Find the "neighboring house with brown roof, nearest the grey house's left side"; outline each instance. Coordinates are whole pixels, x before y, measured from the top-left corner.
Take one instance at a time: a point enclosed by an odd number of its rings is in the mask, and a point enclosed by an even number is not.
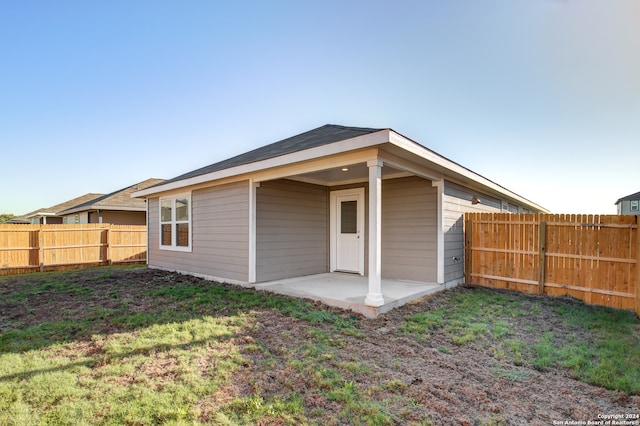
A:
[[[164,179],[147,179],[107,195],[93,198],[58,212],[63,223],[112,223],[115,225],[145,225],[147,203],[131,198],[135,191],[163,182]]]

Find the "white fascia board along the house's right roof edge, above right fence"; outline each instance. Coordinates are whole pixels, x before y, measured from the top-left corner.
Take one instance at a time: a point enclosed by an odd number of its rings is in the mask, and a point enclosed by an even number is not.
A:
[[[502,194],[508,198],[511,198],[513,200],[518,201],[519,203],[522,203],[526,206],[529,207],[533,207],[537,210],[543,211],[543,212],[548,212],[547,209],[545,209],[542,206],[539,206],[538,204],[527,200],[526,198],[509,191],[508,189],[504,188],[503,186],[498,185],[497,183],[467,169],[466,167],[463,167],[461,165],[459,165],[458,163],[455,163],[445,157],[442,157],[441,155],[436,154],[435,152],[423,147],[422,145],[402,136],[401,134],[398,134],[396,132],[391,132],[391,135],[389,137],[389,142],[392,143],[393,145],[396,145],[402,149],[404,149],[405,151],[411,152],[412,154],[415,154],[435,165],[441,166],[444,169],[450,171],[451,173],[453,173],[454,175],[458,175],[461,176],[463,178],[466,179],[470,179],[486,188],[491,189],[494,192],[497,192],[499,194]]]

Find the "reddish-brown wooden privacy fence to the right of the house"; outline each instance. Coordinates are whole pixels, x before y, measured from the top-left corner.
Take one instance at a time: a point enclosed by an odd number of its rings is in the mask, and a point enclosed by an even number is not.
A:
[[[465,238],[467,283],[640,316],[638,216],[466,213]]]

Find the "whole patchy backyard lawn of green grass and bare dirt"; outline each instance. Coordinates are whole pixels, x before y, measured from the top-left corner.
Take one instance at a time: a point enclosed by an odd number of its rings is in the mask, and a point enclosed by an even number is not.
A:
[[[457,288],[366,320],[103,267],[0,277],[0,313],[0,425],[550,423],[640,405],[640,321],[566,298]]]

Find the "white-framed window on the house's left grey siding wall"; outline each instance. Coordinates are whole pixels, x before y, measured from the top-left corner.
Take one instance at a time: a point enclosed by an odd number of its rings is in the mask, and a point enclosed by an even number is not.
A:
[[[191,196],[160,199],[160,248],[191,251]]]

